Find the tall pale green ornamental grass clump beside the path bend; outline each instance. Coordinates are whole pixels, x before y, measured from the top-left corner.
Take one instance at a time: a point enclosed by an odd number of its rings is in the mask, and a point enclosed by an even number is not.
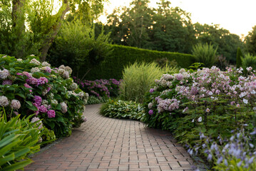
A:
[[[156,63],[133,63],[123,71],[120,85],[120,97],[123,100],[134,100],[143,103],[144,95],[154,83],[155,78],[165,71]]]

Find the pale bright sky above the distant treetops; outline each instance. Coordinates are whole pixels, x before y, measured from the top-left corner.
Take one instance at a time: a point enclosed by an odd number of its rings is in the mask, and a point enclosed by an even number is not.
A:
[[[104,9],[111,14],[118,6],[129,6],[132,0],[109,0]],[[150,6],[157,7],[151,0]],[[230,33],[242,37],[247,36],[252,27],[256,25],[255,0],[169,0],[170,6],[178,6],[191,14],[193,23],[220,24]],[[101,21],[106,22],[106,16],[101,16]]]

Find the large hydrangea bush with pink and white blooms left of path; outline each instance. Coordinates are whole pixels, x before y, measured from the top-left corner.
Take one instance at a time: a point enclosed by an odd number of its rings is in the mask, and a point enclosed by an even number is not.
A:
[[[35,56],[21,60],[0,55],[0,64],[0,105],[11,113],[7,118],[35,113],[57,137],[70,135],[83,122],[88,94],[73,83],[71,68],[51,68]]]

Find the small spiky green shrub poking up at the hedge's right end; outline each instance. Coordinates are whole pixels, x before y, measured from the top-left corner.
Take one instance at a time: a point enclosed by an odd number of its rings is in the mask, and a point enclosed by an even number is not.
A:
[[[199,63],[204,63],[205,67],[211,67],[216,63],[216,52],[217,48],[213,45],[208,45],[208,43],[198,44],[193,47],[193,55],[195,56],[195,61]]]

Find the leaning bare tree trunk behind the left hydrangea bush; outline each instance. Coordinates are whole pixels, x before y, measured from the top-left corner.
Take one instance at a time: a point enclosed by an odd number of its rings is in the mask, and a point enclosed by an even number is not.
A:
[[[56,16],[60,17],[56,21],[56,25],[52,27],[52,33],[51,35],[46,38],[46,40],[43,43],[43,47],[41,48],[41,61],[46,61],[46,56],[48,53],[49,48],[51,47],[51,43],[53,43],[54,39],[56,38],[59,29],[61,28],[61,21],[63,21],[65,14],[69,11],[70,7],[68,5],[68,2],[63,2],[63,5],[61,6],[61,9],[59,9],[58,14]]]

